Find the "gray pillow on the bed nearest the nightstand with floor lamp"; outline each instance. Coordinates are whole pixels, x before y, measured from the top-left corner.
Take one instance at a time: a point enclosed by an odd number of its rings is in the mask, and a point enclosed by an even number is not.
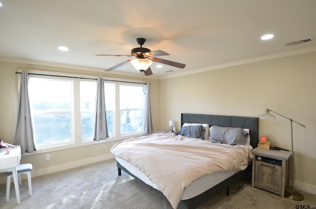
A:
[[[246,144],[248,135],[242,128],[213,126],[209,140],[215,143],[243,145]]]

